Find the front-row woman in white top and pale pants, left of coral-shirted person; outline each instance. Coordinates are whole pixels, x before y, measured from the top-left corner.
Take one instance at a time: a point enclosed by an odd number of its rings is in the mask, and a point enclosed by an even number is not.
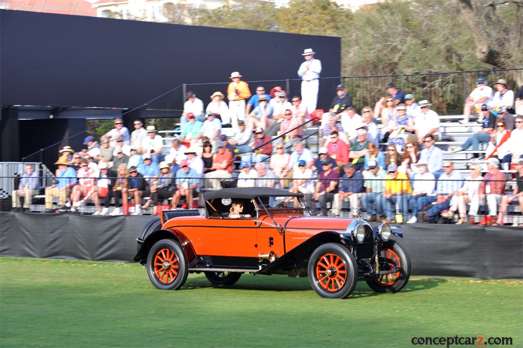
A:
[[[452,196],[449,211],[441,214],[444,218],[452,219],[454,217],[454,211],[458,210],[459,220],[456,224],[467,224],[467,204],[472,201],[474,195],[478,194],[480,183],[483,179],[479,164],[471,165],[470,170],[471,175],[465,178],[463,186],[457,190],[456,195]]]

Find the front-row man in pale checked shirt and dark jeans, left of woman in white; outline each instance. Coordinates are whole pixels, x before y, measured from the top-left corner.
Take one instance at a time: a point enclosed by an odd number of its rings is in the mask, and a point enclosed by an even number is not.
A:
[[[436,183],[436,204],[421,213],[423,222],[436,223],[439,213],[449,209],[450,198],[456,195],[463,183],[463,176],[454,170],[452,161],[443,162],[443,172]]]

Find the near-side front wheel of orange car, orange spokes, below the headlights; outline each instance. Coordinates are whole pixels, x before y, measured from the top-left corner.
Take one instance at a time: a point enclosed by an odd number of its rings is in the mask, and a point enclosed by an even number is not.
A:
[[[358,282],[353,254],[336,243],[323,244],[314,250],[308,272],[312,288],[321,297],[346,298]]]

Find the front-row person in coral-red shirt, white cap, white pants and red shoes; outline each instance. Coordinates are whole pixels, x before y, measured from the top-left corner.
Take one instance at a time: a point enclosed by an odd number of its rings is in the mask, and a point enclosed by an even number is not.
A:
[[[496,223],[497,206],[501,203],[501,198],[505,194],[505,185],[507,178],[504,173],[499,170],[499,161],[496,158],[491,158],[487,162],[487,170],[483,176],[483,181],[480,183],[479,195],[473,197],[470,204],[471,219],[477,215],[480,204],[488,206],[488,215],[484,216],[478,225],[492,225]],[[477,198],[476,198],[477,197]]]

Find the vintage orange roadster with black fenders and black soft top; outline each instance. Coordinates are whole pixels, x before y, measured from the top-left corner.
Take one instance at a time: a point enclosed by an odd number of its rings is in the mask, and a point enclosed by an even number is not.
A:
[[[200,272],[215,285],[232,285],[243,273],[308,276],[328,298],[347,297],[358,280],[383,293],[407,284],[410,259],[390,239],[403,238],[403,231],[387,223],[372,228],[359,218],[311,217],[302,198],[267,187],[206,192],[205,216],[197,209],[164,210],[147,223],[134,261],[166,290]],[[287,207],[294,199],[299,207]],[[232,205],[242,205],[241,214],[231,215]]]

